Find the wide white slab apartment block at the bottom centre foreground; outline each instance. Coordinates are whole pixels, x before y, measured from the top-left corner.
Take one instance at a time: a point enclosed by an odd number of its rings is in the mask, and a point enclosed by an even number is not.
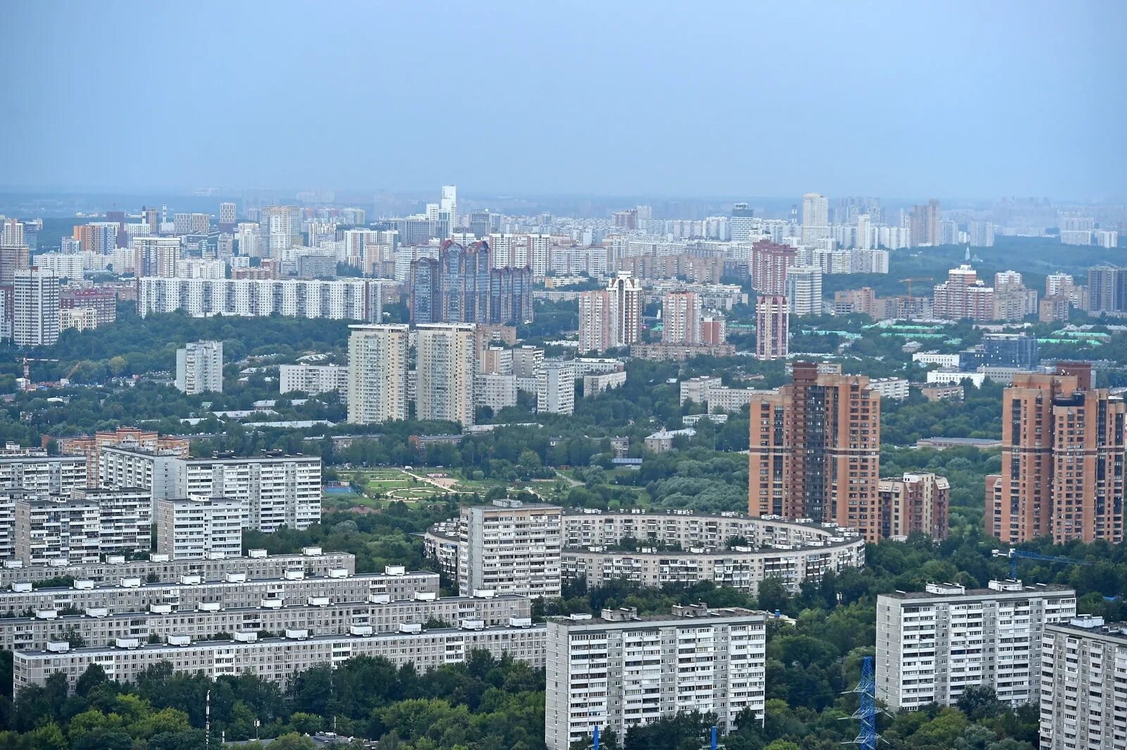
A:
[[[604,609],[548,622],[544,742],[568,750],[596,727],[624,736],[682,711],[715,714],[721,731],[765,707],[766,614],[674,606],[672,615]]]

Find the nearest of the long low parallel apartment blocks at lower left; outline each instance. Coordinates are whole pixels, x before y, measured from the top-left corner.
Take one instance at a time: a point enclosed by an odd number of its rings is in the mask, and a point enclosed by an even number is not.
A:
[[[473,651],[508,655],[539,668],[543,667],[545,633],[543,625],[531,623],[380,634],[355,626],[347,635],[310,635],[304,628],[286,628],[284,637],[270,639],[238,633],[232,641],[192,642],[188,636],[170,636],[168,643],[144,644],[140,639],[121,639],[114,646],[87,649],[56,643],[46,651],[17,651],[14,685],[18,691],[44,685],[52,675],[62,672],[73,687],[90,664],[99,664],[112,680],[128,682],[150,667],[171,662],[176,672],[203,671],[210,679],[254,671],[285,689],[294,672],[353,657],[382,657],[396,667],[410,663],[427,671],[465,661]]]

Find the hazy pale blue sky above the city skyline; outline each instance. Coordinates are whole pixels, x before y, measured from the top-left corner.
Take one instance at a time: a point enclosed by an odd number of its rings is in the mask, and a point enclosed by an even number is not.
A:
[[[3,186],[1127,196],[1120,0],[3,16]]]

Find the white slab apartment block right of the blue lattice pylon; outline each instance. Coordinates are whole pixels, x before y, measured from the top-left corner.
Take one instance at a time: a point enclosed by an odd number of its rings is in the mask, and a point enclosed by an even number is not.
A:
[[[924,591],[877,597],[877,699],[894,711],[953,706],[988,687],[1018,707],[1037,703],[1041,636],[1076,614],[1063,586],[991,581],[985,589],[929,583]]]

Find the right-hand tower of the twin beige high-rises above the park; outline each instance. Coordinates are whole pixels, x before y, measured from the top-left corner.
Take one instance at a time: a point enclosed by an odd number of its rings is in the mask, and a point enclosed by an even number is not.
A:
[[[472,323],[419,325],[416,419],[473,425],[477,347]]]

